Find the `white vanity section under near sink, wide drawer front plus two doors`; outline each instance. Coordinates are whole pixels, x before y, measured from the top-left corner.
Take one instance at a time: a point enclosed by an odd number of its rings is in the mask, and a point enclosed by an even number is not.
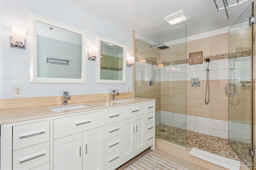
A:
[[[54,119],[53,136],[54,170],[104,169],[104,111]]]

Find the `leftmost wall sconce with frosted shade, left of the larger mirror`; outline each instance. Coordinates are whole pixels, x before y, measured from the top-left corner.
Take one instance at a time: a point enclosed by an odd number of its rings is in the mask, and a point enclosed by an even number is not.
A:
[[[12,35],[10,35],[10,47],[17,49],[26,49],[26,29],[12,27]]]

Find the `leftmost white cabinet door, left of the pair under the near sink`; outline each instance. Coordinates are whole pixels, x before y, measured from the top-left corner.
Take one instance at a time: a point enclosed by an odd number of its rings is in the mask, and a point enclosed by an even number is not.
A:
[[[53,152],[54,170],[81,170],[82,133],[54,140]]]

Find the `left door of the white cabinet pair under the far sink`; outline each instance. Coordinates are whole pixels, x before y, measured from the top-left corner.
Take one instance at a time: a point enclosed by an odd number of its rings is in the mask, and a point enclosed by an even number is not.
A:
[[[121,157],[122,160],[134,152],[134,119],[126,119],[121,122]]]

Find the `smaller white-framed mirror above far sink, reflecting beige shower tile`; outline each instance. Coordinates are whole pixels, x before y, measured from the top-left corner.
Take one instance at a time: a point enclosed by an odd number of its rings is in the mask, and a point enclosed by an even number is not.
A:
[[[97,83],[126,83],[125,45],[98,37]]]

